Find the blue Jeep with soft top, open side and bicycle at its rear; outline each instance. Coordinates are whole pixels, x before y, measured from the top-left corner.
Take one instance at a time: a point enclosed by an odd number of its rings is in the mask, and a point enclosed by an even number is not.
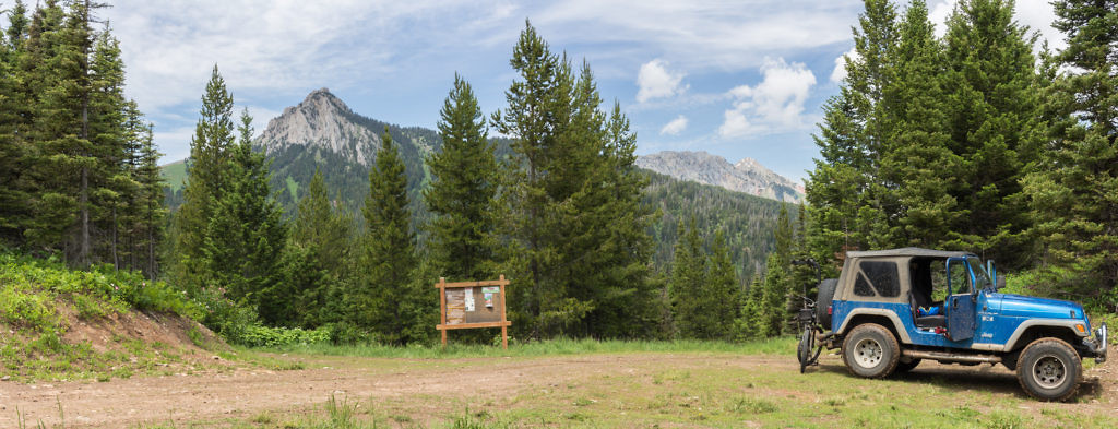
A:
[[[1107,359],[1106,323],[1092,337],[1081,305],[998,293],[998,280],[993,263],[965,251],[847,252],[839,278],[819,282],[800,361],[817,343],[841,347],[850,372],[864,378],[909,371],[921,360],[1001,363],[1034,398],[1070,398],[1080,361]]]

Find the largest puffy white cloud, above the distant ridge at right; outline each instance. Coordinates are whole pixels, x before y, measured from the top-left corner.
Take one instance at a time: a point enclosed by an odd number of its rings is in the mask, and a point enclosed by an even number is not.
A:
[[[804,102],[815,86],[815,74],[800,63],[788,64],[777,58],[765,60],[761,76],[764,79],[757,86],[730,89],[733,108],[723,114],[719,135],[738,137],[805,126]]]

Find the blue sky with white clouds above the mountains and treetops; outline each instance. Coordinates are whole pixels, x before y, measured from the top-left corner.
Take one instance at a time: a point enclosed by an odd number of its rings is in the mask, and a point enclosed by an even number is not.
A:
[[[953,4],[929,0],[934,21]],[[164,162],[189,154],[214,64],[257,132],[321,87],[359,114],[434,127],[455,73],[486,114],[502,108],[527,18],[553,50],[589,61],[603,98],[632,120],[639,154],[752,158],[799,181],[861,11],[847,0],[120,0],[100,15]],[[1018,1],[1017,19],[1061,45],[1045,1]]]

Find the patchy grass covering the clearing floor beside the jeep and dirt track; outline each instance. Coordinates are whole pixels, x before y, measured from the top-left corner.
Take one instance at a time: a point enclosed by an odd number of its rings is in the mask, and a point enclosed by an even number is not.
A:
[[[257,349],[258,350],[258,349]],[[233,428],[1114,428],[1118,418],[1098,392],[1070,403],[1023,395],[1006,372],[954,373],[918,368],[884,380],[852,376],[835,356],[800,374],[793,339],[719,342],[558,340],[500,347],[311,346],[286,349],[300,359],[345,358],[371,373],[421,373],[449,363],[457,371],[505,364],[567,364],[550,356],[618,355],[616,370],[540,381],[501,394],[405,393],[330,398],[312,409],[267,414],[269,422],[230,420]],[[664,358],[664,361],[656,359]],[[740,359],[752,355],[750,359]],[[771,358],[757,359],[756,355]],[[513,360],[477,358],[510,356]],[[626,360],[626,356],[633,356]],[[369,358],[369,359],[362,359]],[[788,360],[785,362],[784,360]],[[666,363],[670,361],[671,363]],[[780,362],[773,364],[771,362]],[[958,368],[958,366],[955,366]],[[572,371],[578,371],[572,368]],[[1084,390],[1087,390],[1084,388]],[[256,419],[246,416],[245,419]],[[259,420],[259,419],[256,419]]]

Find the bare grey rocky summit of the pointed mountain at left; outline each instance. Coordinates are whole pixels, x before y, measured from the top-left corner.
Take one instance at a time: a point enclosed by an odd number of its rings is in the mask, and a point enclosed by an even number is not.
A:
[[[307,150],[331,151],[369,165],[380,147],[380,136],[357,124],[354,116],[353,111],[330,89],[315,89],[303,102],[284,108],[283,114],[268,121],[256,144],[264,147],[267,154],[302,145]]]

